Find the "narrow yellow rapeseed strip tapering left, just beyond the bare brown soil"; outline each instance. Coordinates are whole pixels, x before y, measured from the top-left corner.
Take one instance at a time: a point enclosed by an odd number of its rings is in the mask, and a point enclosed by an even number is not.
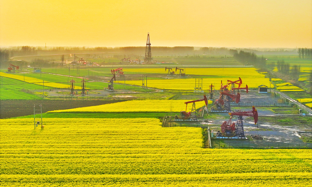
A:
[[[194,98],[196,99],[196,98]],[[198,98],[201,99],[201,98]],[[121,103],[110,103],[91,107],[72,108],[66,110],[54,110],[47,113],[71,113],[71,112],[181,112],[186,108],[186,102],[188,100],[132,100]],[[212,101],[208,101],[212,103]],[[196,108],[200,108],[205,105],[204,101],[197,102]],[[188,104],[188,111],[192,109],[192,103]]]

